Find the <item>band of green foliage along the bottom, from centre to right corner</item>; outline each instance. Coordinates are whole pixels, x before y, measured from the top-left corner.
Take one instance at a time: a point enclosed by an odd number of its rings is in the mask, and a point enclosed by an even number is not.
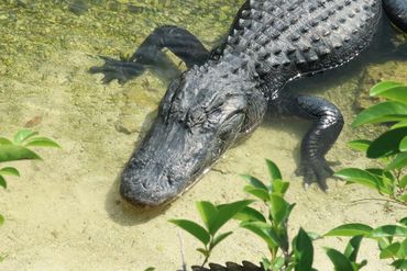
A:
[[[295,206],[285,200],[289,183],[283,181],[280,171],[274,162],[270,160],[266,162],[271,174],[268,184],[254,177],[243,176],[249,182],[244,191],[266,205],[266,215],[249,206],[253,201],[248,200],[217,206],[210,202],[198,202],[197,207],[205,227],[187,219],[170,221],[204,244],[204,248],[198,248],[198,251],[205,256],[201,267],[208,262],[213,247],[232,234],[228,232],[216,235],[217,232],[228,221],[234,218],[241,222],[242,228],[258,236],[267,246],[270,257],[262,259],[262,267],[267,271],[316,271],[312,268],[314,241],[329,236],[351,237],[343,252],[326,248],[327,256],[336,271],[358,271],[367,264],[366,260],[359,262],[356,259],[363,238],[377,240],[381,259],[392,258],[392,266],[396,270],[406,268],[407,217],[398,225],[385,225],[377,228],[363,224],[344,224],[323,236],[299,228],[293,241],[289,242],[288,218]]]

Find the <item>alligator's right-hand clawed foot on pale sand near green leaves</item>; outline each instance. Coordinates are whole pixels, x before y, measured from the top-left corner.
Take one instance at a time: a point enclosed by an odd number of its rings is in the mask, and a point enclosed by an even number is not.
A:
[[[304,177],[304,187],[308,188],[311,183],[317,182],[319,188],[328,191],[327,179],[331,178],[333,170],[324,159],[302,162],[295,171],[296,176]]]

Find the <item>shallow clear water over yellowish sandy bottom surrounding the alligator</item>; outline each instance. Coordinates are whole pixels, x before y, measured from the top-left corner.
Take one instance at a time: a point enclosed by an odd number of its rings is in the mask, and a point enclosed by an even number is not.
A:
[[[182,251],[188,264],[201,259],[198,244],[167,223],[175,217],[198,219],[194,202],[237,200],[243,181],[239,173],[266,180],[264,158],[276,161],[292,181],[290,221],[323,233],[341,223],[394,223],[405,211],[375,201],[366,189],[330,181],[324,194],[305,191],[294,176],[298,143],[308,123],[267,117],[249,139],[231,149],[188,193],[162,210],[138,210],[118,193],[120,172],[154,117],[166,83],[152,74],[120,86],[103,86],[88,68],[99,55],[130,55],[163,24],[187,27],[209,48],[222,37],[242,1],[0,1],[0,134],[11,136],[23,126],[55,138],[62,150],[41,149],[43,162],[15,166],[22,177],[0,191],[7,223],[0,228],[0,270],[176,270]],[[387,29],[388,30],[388,29]],[[354,131],[350,122],[369,102],[365,90],[380,80],[407,82],[407,57],[394,52],[403,35],[386,31],[376,46],[359,60],[288,88],[326,97],[343,112],[346,124],[328,158],[340,167],[364,167],[364,157],[345,142],[369,136],[374,128]],[[387,41],[392,37],[392,43]],[[406,52],[406,50],[404,50]],[[178,60],[174,58],[178,64]],[[363,102],[361,102],[363,101]],[[362,104],[361,104],[362,103]],[[266,249],[255,237],[238,229],[220,245],[212,260],[258,261]],[[183,246],[179,239],[183,240]],[[332,244],[333,241],[333,244]],[[318,241],[316,267],[331,270],[322,246],[343,249],[345,240]],[[391,270],[378,262],[375,245],[363,246],[369,270]]]

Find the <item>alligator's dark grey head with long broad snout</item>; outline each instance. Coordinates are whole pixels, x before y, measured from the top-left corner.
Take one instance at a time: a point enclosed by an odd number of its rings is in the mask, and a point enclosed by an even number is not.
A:
[[[176,199],[256,126],[265,108],[248,71],[224,61],[188,70],[169,84],[155,123],[127,165],[122,196],[150,206]]]

